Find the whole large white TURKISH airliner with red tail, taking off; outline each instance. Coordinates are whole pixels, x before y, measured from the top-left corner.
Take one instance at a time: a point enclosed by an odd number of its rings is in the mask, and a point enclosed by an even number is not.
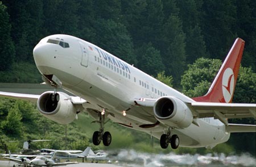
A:
[[[100,47],[70,35],[44,37],[35,46],[35,64],[53,91],[0,92],[2,97],[37,103],[39,112],[60,124],[86,111],[100,124],[93,144],[110,145],[107,119],[160,139],[166,149],[213,148],[232,132],[256,132],[255,125],[228,119],[256,119],[256,104],[231,103],[245,41],[237,38],[206,95],[190,98]],[[62,88],[72,93],[68,95]]]

